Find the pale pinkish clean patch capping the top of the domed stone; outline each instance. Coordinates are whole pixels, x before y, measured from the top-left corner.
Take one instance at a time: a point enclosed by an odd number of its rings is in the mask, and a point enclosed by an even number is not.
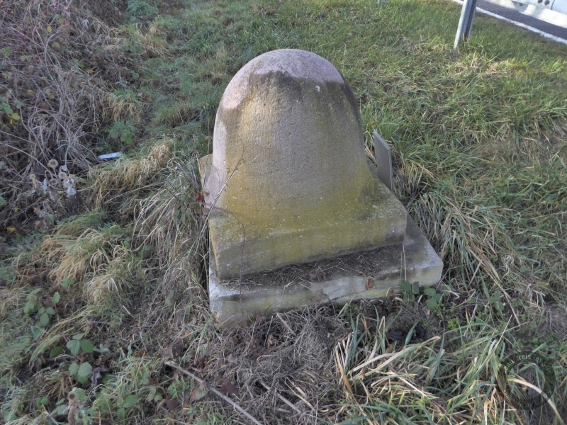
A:
[[[287,77],[313,80],[320,84],[345,84],[339,70],[315,53],[298,49],[272,50],[255,57],[232,77],[225,90],[226,95],[220,101],[220,107],[237,108],[248,92],[249,76],[272,72],[281,72]]]

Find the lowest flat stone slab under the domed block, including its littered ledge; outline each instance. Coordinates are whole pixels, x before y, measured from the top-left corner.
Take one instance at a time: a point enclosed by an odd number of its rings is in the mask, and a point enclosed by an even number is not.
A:
[[[399,291],[403,280],[435,285],[443,262],[408,216],[403,244],[349,254],[275,271],[219,280],[215,256],[209,254],[210,309],[221,325],[304,305],[345,304]]]

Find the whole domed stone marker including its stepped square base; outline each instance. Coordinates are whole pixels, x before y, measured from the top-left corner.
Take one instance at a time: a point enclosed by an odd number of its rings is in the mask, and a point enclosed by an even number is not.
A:
[[[199,167],[220,322],[440,279],[439,257],[366,162],[354,94],[318,55],[275,50],[242,67]]]

